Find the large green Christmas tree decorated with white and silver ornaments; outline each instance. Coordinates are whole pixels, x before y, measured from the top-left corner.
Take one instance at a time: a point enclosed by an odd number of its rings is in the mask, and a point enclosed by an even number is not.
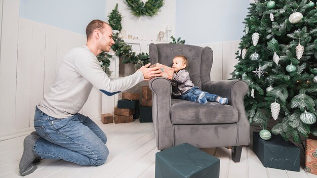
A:
[[[315,1],[251,1],[233,79],[249,84],[249,122],[299,143],[317,136],[317,10]],[[275,123],[275,122],[274,122]]]

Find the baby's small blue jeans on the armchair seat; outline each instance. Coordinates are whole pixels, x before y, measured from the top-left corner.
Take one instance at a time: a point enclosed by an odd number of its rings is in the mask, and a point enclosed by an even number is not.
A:
[[[202,93],[203,91],[199,90],[199,87],[194,86],[192,88],[190,88],[188,91],[186,91],[185,93],[183,93],[180,98],[182,100],[188,100],[188,101],[192,101],[192,102],[198,102],[198,97],[199,95]],[[217,102],[217,98],[219,97],[216,94],[210,94],[208,92],[204,92],[205,93],[205,97],[207,99],[207,101],[211,101],[211,102]]]

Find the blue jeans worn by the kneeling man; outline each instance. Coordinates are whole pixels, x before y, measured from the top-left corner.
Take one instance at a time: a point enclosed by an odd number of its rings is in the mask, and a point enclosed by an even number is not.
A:
[[[104,164],[109,155],[106,135],[83,114],[56,119],[36,107],[34,128],[41,138],[35,142],[33,151],[42,158],[98,166]]]

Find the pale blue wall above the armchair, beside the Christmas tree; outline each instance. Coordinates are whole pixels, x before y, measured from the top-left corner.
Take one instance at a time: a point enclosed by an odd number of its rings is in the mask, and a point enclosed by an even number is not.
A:
[[[239,40],[250,2],[176,0],[176,37],[186,44]]]

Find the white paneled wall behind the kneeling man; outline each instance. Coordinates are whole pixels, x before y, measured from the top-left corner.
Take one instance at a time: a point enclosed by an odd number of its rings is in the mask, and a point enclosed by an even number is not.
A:
[[[15,1],[6,2],[13,4]],[[18,7],[18,4],[15,6]],[[3,14],[7,15],[5,12]],[[86,44],[84,35],[27,19],[16,17],[15,23],[10,23],[3,23],[6,28],[3,28],[1,35],[0,140],[25,135],[33,130],[35,106],[50,91],[63,56],[70,49]],[[113,66],[114,63],[110,68]],[[100,119],[101,95],[93,88],[81,113],[92,119]],[[111,105],[113,100],[106,102]],[[113,105],[109,107],[113,108]]]

